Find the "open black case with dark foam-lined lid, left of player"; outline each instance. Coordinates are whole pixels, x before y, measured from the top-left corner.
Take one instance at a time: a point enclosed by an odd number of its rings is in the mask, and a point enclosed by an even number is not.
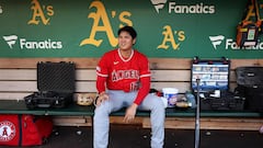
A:
[[[24,98],[28,109],[65,107],[73,102],[73,62],[37,62],[37,92]]]

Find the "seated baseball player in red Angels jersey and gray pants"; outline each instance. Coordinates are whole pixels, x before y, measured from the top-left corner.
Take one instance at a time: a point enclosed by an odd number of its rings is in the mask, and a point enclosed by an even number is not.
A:
[[[94,148],[107,148],[111,112],[126,107],[124,122],[135,118],[137,110],[150,111],[151,148],[162,148],[164,140],[164,104],[149,94],[148,58],[133,48],[137,33],[132,26],[118,30],[118,48],[105,53],[96,67],[96,89],[93,123]]]

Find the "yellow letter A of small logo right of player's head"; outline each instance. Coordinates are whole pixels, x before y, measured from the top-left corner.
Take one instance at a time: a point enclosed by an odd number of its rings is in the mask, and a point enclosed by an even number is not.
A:
[[[173,49],[178,49],[180,44],[175,43],[171,26],[165,25],[163,29],[165,30],[165,31],[162,32],[164,38],[162,41],[162,44],[159,45],[157,48],[168,49],[169,46],[167,45],[167,43],[169,42],[169,43],[172,44]]]

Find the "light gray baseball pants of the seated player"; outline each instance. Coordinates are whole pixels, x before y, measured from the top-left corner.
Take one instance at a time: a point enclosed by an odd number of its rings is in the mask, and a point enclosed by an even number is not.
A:
[[[116,90],[108,90],[108,101],[104,101],[94,112],[93,123],[93,147],[107,148],[108,132],[110,132],[110,114],[118,111],[122,107],[129,106],[134,103],[137,96],[135,92],[124,92]],[[164,118],[165,109],[162,100],[153,94],[148,94],[138,110],[150,111],[151,123],[151,148],[162,148],[164,140]],[[135,137],[136,138],[136,137]],[[139,139],[139,138],[138,138]]]

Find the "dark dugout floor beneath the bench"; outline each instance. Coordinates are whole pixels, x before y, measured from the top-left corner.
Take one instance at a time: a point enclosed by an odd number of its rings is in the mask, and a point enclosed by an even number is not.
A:
[[[194,148],[194,130],[165,129],[164,148]],[[150,129],[130,125],[111,125],[108,148],[149,148]],[[259,132],[201,130],[199,148],[262,148]],[[0,146],[0,148],[8,148]],[[92,148],[91,127],[58,126],[48,141],[33,148]]]

